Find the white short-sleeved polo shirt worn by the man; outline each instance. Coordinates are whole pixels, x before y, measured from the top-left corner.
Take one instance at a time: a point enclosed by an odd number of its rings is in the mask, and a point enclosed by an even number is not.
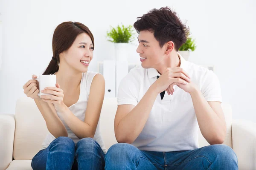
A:
[[[183,68],[200,88],[207,101],[221,102],[221,88],[217,76],[199,65],[188,62],[180,56]],[[137,105],[148,88],[160,74],[154,68],[137,66],[122,79],[119,85],[118,105]],[[173,95],[160,94],[149,114],[148,120],[137,139],[132,143],[140,150],[170,152],[198,148],[198,122],[192,99],[176,85]],[[138,113],[139,114],[139,113]]]

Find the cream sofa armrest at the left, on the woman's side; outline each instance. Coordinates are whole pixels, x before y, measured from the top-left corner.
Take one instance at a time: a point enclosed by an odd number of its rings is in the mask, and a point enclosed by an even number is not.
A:
[[[0,170],[5,170],[12,161],[15,132],[15,115],[0,114]]]

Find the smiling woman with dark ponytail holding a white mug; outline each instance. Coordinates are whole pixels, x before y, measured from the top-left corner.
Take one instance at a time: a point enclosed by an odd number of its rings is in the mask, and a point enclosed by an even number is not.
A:
[[[101,74],[87,71],[93,59],[94,39],[81,23],[64,22],[54,31],[53,57],[44,74],[55,74],[56,87],[39,98],[35,75],[24,93],[35,100],[49,134],[32,159],[33,170],[101,170],[105,153],[99,116],[105,93]]]

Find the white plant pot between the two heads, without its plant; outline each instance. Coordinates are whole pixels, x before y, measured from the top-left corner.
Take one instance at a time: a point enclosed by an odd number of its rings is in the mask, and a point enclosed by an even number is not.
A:
[[[115,43],[116,61],[128,62],[128,43]]]

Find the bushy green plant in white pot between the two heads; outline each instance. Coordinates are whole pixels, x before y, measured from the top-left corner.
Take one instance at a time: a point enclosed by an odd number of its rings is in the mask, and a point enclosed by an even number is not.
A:
[[[115,45],[116,51],[116,60],[117,61],[128,61],[128,43],[134,41],[135,31],[133,26],[128,25],[117,26],[113,28],[111,26],[111,30],[107,31],[108,41],[111,41]]]

